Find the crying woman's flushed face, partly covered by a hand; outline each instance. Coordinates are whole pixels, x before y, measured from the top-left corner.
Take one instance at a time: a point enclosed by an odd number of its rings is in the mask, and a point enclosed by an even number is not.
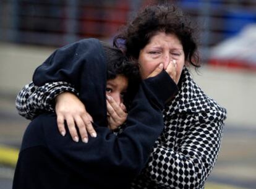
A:
[[[138,61],[142,78],[147,78],[161,63],[164,65],[164,69],[166,69],[172,60],[176,60],[177,62],[175,80],[179,81],[185,64],[181,41],[179,41],[176,35],[171,33],[156,33],[156,35],[151,37],[149,43],[140,50]]]

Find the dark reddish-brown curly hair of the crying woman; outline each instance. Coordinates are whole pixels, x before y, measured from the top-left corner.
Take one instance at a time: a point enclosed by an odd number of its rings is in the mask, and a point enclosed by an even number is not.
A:
[[[114,38],[113,45],[124,49],[126,56],[139,59],[140,50],[159,31],[176,35],[182,43],[185,60],[195,67],[200,67],[195,25],[181,10],[171,4],[153,5],[143,9]]]

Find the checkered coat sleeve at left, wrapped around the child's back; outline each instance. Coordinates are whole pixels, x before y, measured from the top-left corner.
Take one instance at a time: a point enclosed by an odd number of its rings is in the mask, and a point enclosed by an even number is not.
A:
[[[53,101],[58,94],[64,91],[78,95],[74,86],[67,82],[51,82],[45,83],[43,86],[36,86],[30,82],[17,95],[16,109],[20,115],[30,120],[42,112],[54,112],[55,104]]]

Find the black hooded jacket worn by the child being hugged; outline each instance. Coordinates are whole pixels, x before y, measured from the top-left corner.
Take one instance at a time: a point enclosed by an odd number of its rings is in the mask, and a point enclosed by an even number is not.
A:
[[[13,188],[127,188],[145,166],[163,130],[164,102],[177,86],[165,71],[140,84],[127,127],[114,135],[106,120],[106,61],[100,41],[56,50],[33,75],[35,85],[66,81],[92,115],[97,137],[87,144],[61,136],[56,115],[41,114],[24,133]]]

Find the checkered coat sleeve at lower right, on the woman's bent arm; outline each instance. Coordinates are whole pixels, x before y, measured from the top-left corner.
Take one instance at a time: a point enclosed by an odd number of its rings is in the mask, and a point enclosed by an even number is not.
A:
[[[216,119],[209,119],[212,115]],[[163,188],[203,188],[220,151],[224,122],[218,115],[220,112],[214,111],[193,115],[197,122],[191,125],[176,149],[156,141],[148,166],[143,170],[144,177]],[[135,182],[134,187],[138,188],[141,180]]]

